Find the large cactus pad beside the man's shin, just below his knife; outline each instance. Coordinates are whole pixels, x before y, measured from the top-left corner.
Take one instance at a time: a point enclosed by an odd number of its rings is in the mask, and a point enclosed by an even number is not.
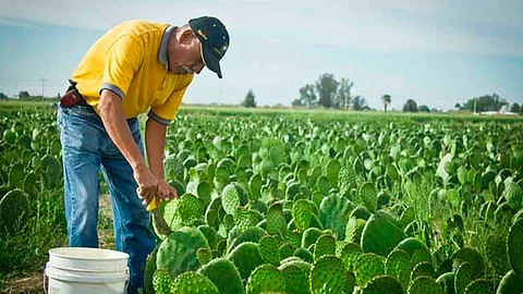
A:
[[[156,267],[168,269],[171,277],[194,271],[199,267],[196,252],[202,247],[210,250],[207,240],[198,229],[181,228],[161,242],[156,256]]]

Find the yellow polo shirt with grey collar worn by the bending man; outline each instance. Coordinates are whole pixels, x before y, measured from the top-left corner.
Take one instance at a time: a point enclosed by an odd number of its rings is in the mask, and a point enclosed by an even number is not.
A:
[[[108,89],[122,98],[125,118],[148,111],[169,124],[175,117],[193,74],[168,71],[167,45],[175,27],[147,21],[117,25],[87,51],[71,79],[88,105]]]

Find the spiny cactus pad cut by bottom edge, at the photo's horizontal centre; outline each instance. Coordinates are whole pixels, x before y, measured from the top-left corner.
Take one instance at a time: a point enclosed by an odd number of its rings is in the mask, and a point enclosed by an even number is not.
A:
[[[246,294],[283,292],[285,275],[275,266],[263,265],[257,267],[248,277]]]

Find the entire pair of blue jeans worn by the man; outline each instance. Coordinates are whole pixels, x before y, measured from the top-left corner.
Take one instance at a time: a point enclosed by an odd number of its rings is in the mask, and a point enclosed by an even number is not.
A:
[[[115,247],[130,255],[127,293],[136,293],[144,285],[145,261],[155,247],[155,237],[148,228],[149,213],[136,195],[133,170],[93,109],[59,107],[58,124],[69,246],[98,247],[98,172],[101,168],[111,197]],[[131,119],[127,124],[143,155],[139,122]]]

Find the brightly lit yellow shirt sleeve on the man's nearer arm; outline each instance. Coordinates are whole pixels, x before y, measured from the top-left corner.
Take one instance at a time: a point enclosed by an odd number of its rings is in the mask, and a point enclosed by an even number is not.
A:
[[[123,99],[143,60],[143,46],[131,36],[120,37],[106,53],[99,94],[108,89]]]

